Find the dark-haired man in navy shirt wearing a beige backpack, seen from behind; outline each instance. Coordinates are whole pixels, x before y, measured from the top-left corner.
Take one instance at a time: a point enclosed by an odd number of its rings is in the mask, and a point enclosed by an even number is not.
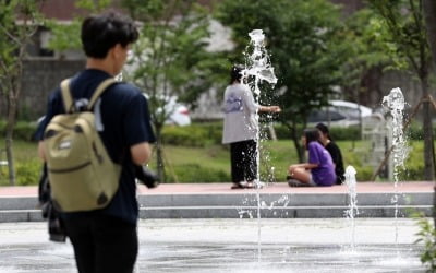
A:
[[[148,162],[155,136],[140,90],[111,80],[137,37],[120,14],[88,16],[81,34],[86,68],[50,95],[38,129],[53,204],[81,273],[133,272],[138,251],[135,169]]]

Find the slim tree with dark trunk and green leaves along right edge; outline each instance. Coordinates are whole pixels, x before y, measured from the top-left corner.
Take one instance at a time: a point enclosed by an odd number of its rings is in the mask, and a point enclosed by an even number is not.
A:
[[[429,102],[431,51],[423,14],[423,0],[368,0],[371,7],[384,19],[388,38],[396,44],[397,55],[420,79],[424,131],[424,179],[435,177],[433,124]]]

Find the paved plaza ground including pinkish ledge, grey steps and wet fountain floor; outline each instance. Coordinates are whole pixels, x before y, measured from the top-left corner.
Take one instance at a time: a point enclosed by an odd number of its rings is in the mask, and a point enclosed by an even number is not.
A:
[[[347,186],[140,186],[136,273],[425,272],[423,246],[414,244],[416,221],[404,212],[429,214],[433,187],[360,182],[360,214],[352,222],[344,217]],[[0,188],[0,273],[76,272],[70,242],[48,240],[36,192]]]

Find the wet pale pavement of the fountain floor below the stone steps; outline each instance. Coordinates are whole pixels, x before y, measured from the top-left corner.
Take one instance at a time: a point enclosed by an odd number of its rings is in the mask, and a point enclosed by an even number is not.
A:
[[[344,218],[142,219],[136,272],[425,272],[414,219],[354,224],[353,229]],[[0,272],[76,272],[71,245],[47,238],[46,223],[0,224]]]

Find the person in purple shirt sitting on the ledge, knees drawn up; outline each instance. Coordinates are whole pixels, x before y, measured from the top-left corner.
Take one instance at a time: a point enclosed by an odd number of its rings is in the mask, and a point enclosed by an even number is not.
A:
[[[319,131],[304,130],[302,141],[308,151],[308,162],[289,166],[289,186],[332,186],[336,182],[335,165],[328,151],[319,143]]]

